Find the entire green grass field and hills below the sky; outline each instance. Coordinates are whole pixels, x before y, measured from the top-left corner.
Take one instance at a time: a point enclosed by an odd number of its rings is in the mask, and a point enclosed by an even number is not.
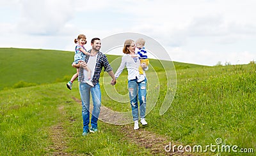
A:
[[[70,91],[63,82],[65,76],[69,78],[74,73],[70,67],[73,53],[13,48],[1,48],[0,53],[0,155],[152,155],[156,149],[147,145],[152,141],[152,135],[166,138],[165,142],[158,143],[162,150],[169,142],[183,146],[216,145],[218,138],[222,139],[221,145],[238,146],[237,152],[207,150],[184,155],[253,155],[252,150],[255,153],[256,64],[205,67],[174,62],[177,67],[176,94],[168,111],[159,115],[161,104],[168,98],[165,97],[168,92],[166,74],[159,61],[150,60],[158,77],[154,70],[147,72],[148,94],[151,95],[147,98],[157,99],[146,117],[148,125],[134,132],[132,124],[112,125],[100,121],[99,133],[83,137],[81,105],[76,101],[79,99],[77,83]],[[11,67],[4,67],[11,63],[3,58],[9,57],[7,53],[18,61],[19,66],[13,68],[19,71],[15,76],[10,72],[13,71]],[[39,55],[37,59],[35,53]],[[56,57],[61,59],[52,61]],[[111,62],[118,57],[108,58]],[[31,61],[37,67],[28,66]],[[117,67],[119,64],[113,65]],[[31,76],[29,71],[36,74]],[[126,79],[127,75],[122,73],[115,86],[117,92],[124,95],[124,101],[128,98]],[[20,80],[26,84],[14,89]],[[156,82],[159,85],[155,85]],[[26,87],[31,83],[35,83],[34,86]],[[107,83],[104,78],[100,79],[104,106],[115,111],[130,111],[129,102],[119,103],[108,96],[113,93],[103,87]],[[155,90],[159,90],[159,94],[150,94]],[[146,145],[140,143],[141,138]],[[242,153],[244,149],[248,153]]]

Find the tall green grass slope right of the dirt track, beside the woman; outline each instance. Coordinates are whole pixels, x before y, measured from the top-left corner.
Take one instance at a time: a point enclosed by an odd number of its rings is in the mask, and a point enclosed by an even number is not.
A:
[[[160,82],[160,93],[147,97],[157,99],[156,106],[147,115],[148,131],[168,136],[183,145],[206,146],[221,138],[225,145],[256,149],[256,64],[178,70],[177,92],[163,116],[159,115],[159,110],[167,91],[166,78],[163,72],[157,74],[160,75],[158,80],[154,73],[147,73],[148,94],[156,92],[158,86],[154,85]],[[108,87],[102,98],[112,110],[129,111],[126,76],[118,79],[116,91],[126,95],[126,99],[113,101],[108,96],[113,97],[114,92],[109,94]],[[122,100],[127,103],[118,102]],[[239,155],[232,153],[236,154]]]

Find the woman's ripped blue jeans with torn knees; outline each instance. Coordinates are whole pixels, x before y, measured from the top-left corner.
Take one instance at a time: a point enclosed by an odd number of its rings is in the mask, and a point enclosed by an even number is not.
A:
[[[147,79],[143,82],[137,82],[137,79],[128,80],[128,88],[133,120],[139,120],[138,99],[140,103],[140,118],[145,118]]]

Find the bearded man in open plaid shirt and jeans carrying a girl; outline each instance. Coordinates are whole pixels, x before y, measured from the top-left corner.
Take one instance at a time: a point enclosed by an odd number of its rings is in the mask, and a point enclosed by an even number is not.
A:
[[[109,76],[111,76],[111,85],[115,85],[116,79],[115,74],[112,71],[111,66],[109,65],[106,55],[102,52],[99,52],[101,43],[99,38],[93,38],[91,41],[92,50],[89,50],[89,53],[92,53],[95,56],[86,55],[85,60],[81,63],[79,69],[78,82],[79,83],[79,92],[82,101],[82,116],[83,116],[83,136],[86,136],[88,132],[97,132],[97,121],[100,113],[100,104],[101,104],[101,92],[99,85],[100,72],[102,67],[104,71],[107,71]],[[79,64],[72,64],[73,67],[79,67]],[[92,82],[94,87],[86,83],[87,71],[84,67],[88,66],[92,70]],[[93,110],[91,118],[91,127],[90,124],[90,93],[92,95],[93,101]]]

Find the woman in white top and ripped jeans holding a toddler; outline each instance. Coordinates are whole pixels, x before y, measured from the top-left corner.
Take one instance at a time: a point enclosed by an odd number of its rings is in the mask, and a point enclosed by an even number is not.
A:
[[[142,125],[147,125],[147,122],[145,121],[147,78],[145,78],[145,80],[143,80],[142,82],[137,82],[138,78],[140,77],[140,59],[138,59],[138,57],[134,57],[135,48],[136,46],[132,39],[127,39],[125,41],[123,48],[123,53],[125,53],[125,55],[122,57],[120,67],[118,67],[115,73],[115,78],[118,78],[118,76],[124,70],[125,66],[127,67],[129,97],[131,101],[134,130],[139,129],[138,99],[140,102],[140,122]]]

